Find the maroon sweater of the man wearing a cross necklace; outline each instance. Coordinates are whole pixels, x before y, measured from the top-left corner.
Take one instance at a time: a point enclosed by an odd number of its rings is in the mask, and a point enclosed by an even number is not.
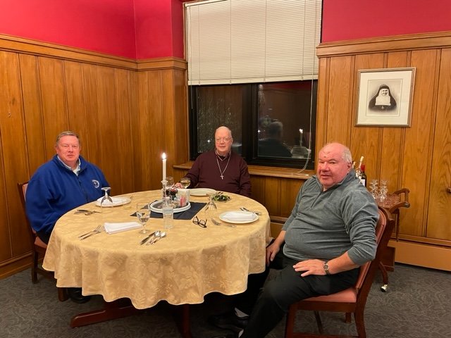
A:
[[[218,163],[221,171],[218,168]],[[221,179],[221,173],[223,173],[223,179]],[[190,177],[190,188],[211,188],[221,192],[251,196],[251,182],[247,163],[240,155],[235,153],[230,154],[230,161],[228,162],[227,157],[224,161],[216,161],[215,151],[206,151],[196,158],[186,177]]]

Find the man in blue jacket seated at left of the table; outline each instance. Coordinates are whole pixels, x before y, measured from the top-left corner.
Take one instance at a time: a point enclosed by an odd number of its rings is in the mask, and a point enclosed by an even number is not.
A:
[[[99,199],[103,195],[101,188],[109,187],[101,170],[80,156],[80,149],[78,134],[61,132],[56,137],[56,155],[41,165],[28,182],[27,217],[44,243],[49,243],[58,218]],[[79,303],[89,300],[82,296],[81,289],[70,288],[69,296]]]

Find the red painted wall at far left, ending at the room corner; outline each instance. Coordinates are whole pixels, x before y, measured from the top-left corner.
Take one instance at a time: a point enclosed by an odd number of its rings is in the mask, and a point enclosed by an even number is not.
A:
[[[0,34],[136,58],[134,16],[132,0],[0,0]]]

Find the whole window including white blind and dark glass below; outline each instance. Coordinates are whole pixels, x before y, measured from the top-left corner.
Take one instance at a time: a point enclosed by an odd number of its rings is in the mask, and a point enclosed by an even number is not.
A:
[[[233,132],[249,164],[313,168],[321,0],[185,4],[191,156]]]

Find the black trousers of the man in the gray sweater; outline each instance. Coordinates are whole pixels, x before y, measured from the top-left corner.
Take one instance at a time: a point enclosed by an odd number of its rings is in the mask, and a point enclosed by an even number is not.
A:
[[[241,338],[264,338],[282,320],[292,303],[312,296],[333,294],[357,282],[359,268],[334,275],[301,277],[301,273],[292,267],[297,261],[283,255],[282,251],[283,248],[264,273],[249,275],[247,290],[237,298],[237,308],[251,313]],[[270,269],[276,271],[266,281]]]

